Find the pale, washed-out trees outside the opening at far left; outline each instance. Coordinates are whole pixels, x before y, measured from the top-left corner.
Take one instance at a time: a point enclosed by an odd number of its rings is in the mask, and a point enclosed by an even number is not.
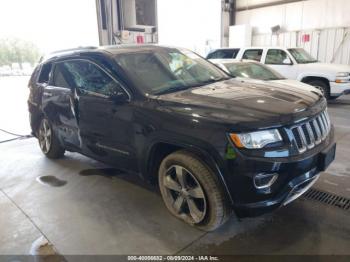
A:
[[[0,66],[12,63],[30,63],[32,66],[40,57],[39,48],[33,43],[18,38],[0,39]]]

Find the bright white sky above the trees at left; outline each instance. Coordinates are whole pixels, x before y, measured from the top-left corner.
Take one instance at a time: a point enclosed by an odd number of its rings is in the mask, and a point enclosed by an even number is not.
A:
[[[18,37],[44,53],[98,45],[95,0],[0,0],[0,38]]]

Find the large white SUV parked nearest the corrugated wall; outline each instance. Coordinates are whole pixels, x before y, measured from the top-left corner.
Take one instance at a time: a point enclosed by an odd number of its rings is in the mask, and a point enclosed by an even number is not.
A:
[[[320,63],[302,48],[244,47],[212,50],[207,59],[249,59],[275,69],[286,78],[319,88],[327,99],[350,93],[350,66]]]

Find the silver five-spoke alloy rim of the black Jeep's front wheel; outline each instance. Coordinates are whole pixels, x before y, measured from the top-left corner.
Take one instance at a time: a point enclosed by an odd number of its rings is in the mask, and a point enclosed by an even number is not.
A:
[[[203,221],[207,211],[204,190],[195,176],[180,165],[171,166],[164,178],[168,207],[189,223]]]

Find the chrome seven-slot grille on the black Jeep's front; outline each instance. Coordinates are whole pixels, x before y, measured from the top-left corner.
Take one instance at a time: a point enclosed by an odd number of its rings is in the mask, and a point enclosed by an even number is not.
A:
[[[320,144],[329,134],[331,122],[327,110],[315,118],[309,119],[291,128],[294,140],[300,153]]]

